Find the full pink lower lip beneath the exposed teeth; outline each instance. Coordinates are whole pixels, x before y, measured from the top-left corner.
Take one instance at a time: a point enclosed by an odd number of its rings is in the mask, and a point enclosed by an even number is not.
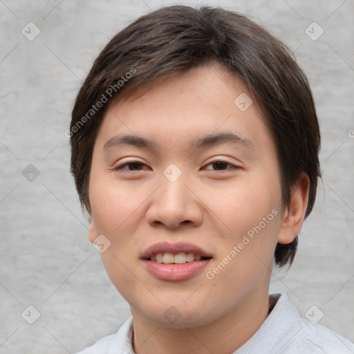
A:
[[[160,280],[179,281],[194,277],[198,272],[201,272],[210,259],[203,261],[193,261],[182,264],[165,264],[143,259],[142,263],[153,277]]]

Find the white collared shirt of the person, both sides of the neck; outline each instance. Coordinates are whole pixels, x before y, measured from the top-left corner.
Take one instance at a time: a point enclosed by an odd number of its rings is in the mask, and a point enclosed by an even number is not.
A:
[[[288,295],[278,298],[259,330],[233,354],[354,354],[354,344],[329,328],[300,317]],[[98,340],[77,354],[134,354],[131,346],[133,318],[117,333]]]

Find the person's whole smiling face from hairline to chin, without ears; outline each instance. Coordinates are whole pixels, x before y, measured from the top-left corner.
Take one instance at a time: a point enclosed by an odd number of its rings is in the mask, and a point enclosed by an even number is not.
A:
[[[268,294],[281,185],[274,142],[250,98],[212,64],[106,111],[93,150],[89,238],[111,243],[102,261],[133,316],[199,326]]]

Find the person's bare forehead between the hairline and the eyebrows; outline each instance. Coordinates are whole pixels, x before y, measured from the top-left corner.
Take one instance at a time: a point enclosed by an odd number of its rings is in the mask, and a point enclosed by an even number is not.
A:
[[[97,140],[102,149],[118,134],[145,138],[151,147],[196,147],[201,136],[232,133],[260,146],[271,140],[260,112],[243,80],[214,63],[118,96]]]

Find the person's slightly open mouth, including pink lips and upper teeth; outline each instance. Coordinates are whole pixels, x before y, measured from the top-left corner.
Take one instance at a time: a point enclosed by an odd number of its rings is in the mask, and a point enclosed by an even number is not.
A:
[[[194,277],[207,266],[212,255],[190,243],[156,243],[140,259],[156,279],[181,281]]]

